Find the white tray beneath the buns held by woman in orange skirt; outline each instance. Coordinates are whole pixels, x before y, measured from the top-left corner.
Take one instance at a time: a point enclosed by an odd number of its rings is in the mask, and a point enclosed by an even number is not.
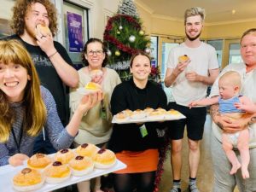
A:
[[[151,118],[146,116],[142,119],[132,119],[131,117],[125,120],[119,120],[116,118],[116,115],[113,115],[112,123],[113,124],[131,124],[131,123],[146,123],[146,122],[154,122],[154,121],[167,121],[167,120],[177,120],[177,119],[185,119],[186,117],[182,113],[178,113],[175,115],[161,115],[158,118]]]

